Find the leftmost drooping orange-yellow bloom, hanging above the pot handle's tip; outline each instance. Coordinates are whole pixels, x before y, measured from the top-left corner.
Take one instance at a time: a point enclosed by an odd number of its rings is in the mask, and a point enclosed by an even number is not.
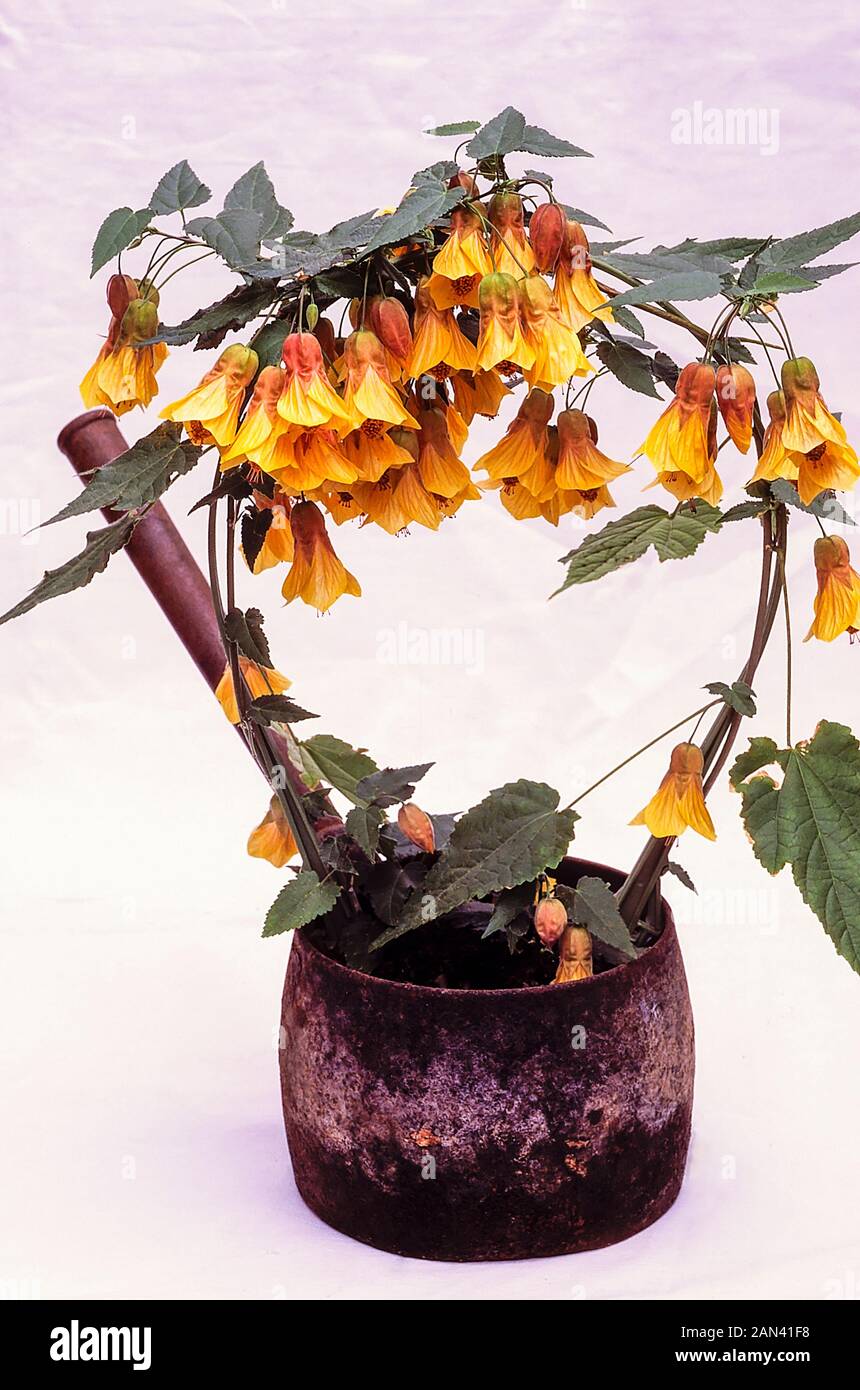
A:
[[[107,406],[124,416],[135,406],[149,406],[158,392],[156,373],[167,357],[164,343],[139,348],[158,331],[158,309],[143,299],[131,275],[111,275],[107,289],[111,322],[107,339],[81,382],[88,409]]]

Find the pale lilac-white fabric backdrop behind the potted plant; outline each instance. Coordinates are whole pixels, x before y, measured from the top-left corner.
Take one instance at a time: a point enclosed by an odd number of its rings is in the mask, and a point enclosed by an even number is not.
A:
[[[222,195],[265,158],[297,225],[396,202],[447,145],[422,126],[513,101],[592,150],[557,165],[561,195],[617,236],[788,235],[854,211],[859,122],[852,7],[810,21],[754,7],[486,0],[432,7],[293,0],[14,0],[0,28],[7,235],[0,379],[6,609],[71,555],[83,521],[21,537],[75,492],[56,452],[104,332],[88,281],[103,215],[146,202],[188,157]],[[775,108],[779,149],[679,146],[672,111]],[[532,160],[532,163],[539,163]],[[854,249],[856,254],[856,249]],[[835,259],[850,256],[838,253]],[[131,268],[131,267],[129,267]],[[171,282],[167,321],[231,284],[208,264]],[[857,281],[793,296],[799,350],[854,442]],[[843,300],[843,296],[845,300]],[[707,306],[702,306],[702,317]],[[684,353],[682,338],[649,332]],[[208,357],[176,353],[161,399]],[[760,379],[766,382],[764,373]],[[770,388],[767,388],[770,389]],[[602,442],[625,457],[656,403],[592,395]],[[139,414],[128,438],[151,428]],[[470,457],[493,430],[477,430]],[[746,461],[721,456],[735,493]],[[634,506],[646,481],[618,488]],[[172,514],[201,553],[207,480]],[[792,523],[796,630],[814,591],[811,523]],[[439,535],[349,528],[336,545],[364,585],[320,620],[282,609],[278,577],[245,584],[270,613],[278,664],[321,728],[388,763],[435,758],[431,809],[461,809],[515,776],[564,796],[732,680],[757,585],[754,525],[696,562],[635,569],[554,599],[581,532],[514,524],[495,502]],[[479,660],[386,664],[385,634],[465,634]],[[245,855],[267,795],[124,557],[85,594],[1,634],[4,1141],[0,1287],[10,1295],[232,1298],[856,1297],[859,981],[785,877],[754,863],[728,788],[720,838],[678,858],[670,885],[697,1024],[695,1134],[684,1193],[622,1247],[524,1265],[442,1266],[365,1250],[296,1195],[282,1136],[276,1023],[288,942],[260,941],[278,876]],[[756,731],[782,735],[782,638],[757,680]],[[797,646],[796,735],[857,727],[857,652]],[[628,866],[629,816],[663,771],[649,753],[581,808],[582,853]]]

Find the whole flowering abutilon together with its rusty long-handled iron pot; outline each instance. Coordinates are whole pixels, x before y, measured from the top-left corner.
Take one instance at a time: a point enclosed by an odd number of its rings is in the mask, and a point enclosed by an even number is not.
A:
[[[852,639],[860,578],[832,527],[852,524],[836,493],[860,463],[792,343],[784,296],[847,268],[817,261],[860,215],[786,239],[589,245],[584,224],[602,222],[561,203],[550,174],[514,172],[524,157],[584,150],[513,108],[429,133],[458,140],[452,158],[418,171],[397,207],[324,235],[293,229],[263,164],[220,211],[196,211],[211,195],[181,161],[144,208],[104,220],[92,272],[115,261],[110,321],[82,382],[94,409],[61,435],[86,485],[51,521],[99,509],[108,521],[6,619],[129,550],[271,788],[249,851],[288,874],[263,934],[295,933],[281,1058],[301,1195],[386,1250],[520,1258],[610,1244],[679,1190],[693,1031],[660,881],[671,872],[689,885],[671,859],[682,833],[716,838],[706,796],[756,712],[781,614],[785,737],[753,738],[729,776],[757,858],[771,873],[791,865],[857,967],[860,749],[827,720],[795,739],[785,557],[791,514],[818,532],[807,637]],[[215,256],[235,288],[165,327],[169,281]],[[720,302],[710,325],[679,307],[709,299]],[[664,322],[685,329],[689,360],[652,345],[642,316],[657,336]],[[167,352],[188,343],[208,353],[201,379],[124,448],[114,417],[149,406]],[[635,452],[667,505],[606,521],[613,480],[634,467],[602,448],[595,386],[613,378],[668,396]],[[507,424],[470,467],[475,416]],[[746,486],[721,507],[720,452],[753,445],[754,461],[732,470]],[[206,581],[160,503],[203,459]],[[707,699],[643,748],[620,746],[625,766],[679,739],[660,787],[643,791],[634,823],[650,838],[627,874],[568,858],[593,787],[563,803],[522,777],[465,813],[431,815],[417,790],[431,763],[379,766],[307,735],[317,716],[288,694],[263,614],[239,603],[239,546],[254,574],[285,567],[288,603],[325,612],[361,592],[361,528],[435,531],[461,510],[467,527],[485,493],[515,518],[588,523],[559,592],[652,549],[686,559],[724,527],[760,532],[741,670],[704,673],[724,677]]]

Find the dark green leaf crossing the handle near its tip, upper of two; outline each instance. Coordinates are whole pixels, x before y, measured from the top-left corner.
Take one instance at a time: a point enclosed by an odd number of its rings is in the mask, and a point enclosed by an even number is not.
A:
[[[83,492],[50,517],[44,525],[67,517],[114,507],[132,512],[154,502],[171,482],[190,473],[200,459],[200,448],[182,438],[182,425],[165,421],[151,434],[138,439],[131,449],[96,470]]]

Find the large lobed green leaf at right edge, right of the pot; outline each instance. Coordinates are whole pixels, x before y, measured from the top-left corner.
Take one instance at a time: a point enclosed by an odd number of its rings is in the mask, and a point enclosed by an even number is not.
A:
[[[781,785],[760,771],[772,763]],[[860,972],[860,745],[850,728],[822,720],[809,744],[782,749],[754,738],[731,781],[759,862],[771,874],[792,866],[803,901]]]

